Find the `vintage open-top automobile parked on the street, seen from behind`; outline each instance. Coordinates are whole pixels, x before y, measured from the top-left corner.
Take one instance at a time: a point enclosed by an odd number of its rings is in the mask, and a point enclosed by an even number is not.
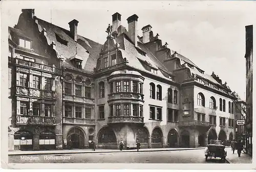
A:
[[[207,158],[219,157],[223,162],[226,161],[227,151],[225,150],[225,145],[222,145],[221,140],[210,140],[210,144],[207,145],[205,149],[205,161]]]

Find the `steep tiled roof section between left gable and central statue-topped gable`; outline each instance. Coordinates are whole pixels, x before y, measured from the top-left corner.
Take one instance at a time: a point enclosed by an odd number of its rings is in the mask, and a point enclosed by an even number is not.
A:
[[[90,39],[84,38],[78,35],[77,42],[71,37],[71,33],[68,30],[55,26],[52,23],[37,18],[38,29],[41,32],[44,28],[47,32],[48,44],[52,41],[56,44],[56,50],[60,57],[64,59],[63,65],[74,67],[70,61],[70,58],[76,55],[81,57],[83,70],[93,71],[96,66],[97,59],[101,50],[101,44],[96,43]],[[67,41],[67,45],[60,43],[56,39],[58,35],[62,40]]]

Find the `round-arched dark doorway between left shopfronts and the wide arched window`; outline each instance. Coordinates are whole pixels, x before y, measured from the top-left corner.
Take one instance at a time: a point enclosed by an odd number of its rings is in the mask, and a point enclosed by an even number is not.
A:
[[[69,132],[68,132],[68,145],[70,145],[71,148],[84,148],[84,138],[85,135],[83,133],[83,131],[78,128],[72,128]]]

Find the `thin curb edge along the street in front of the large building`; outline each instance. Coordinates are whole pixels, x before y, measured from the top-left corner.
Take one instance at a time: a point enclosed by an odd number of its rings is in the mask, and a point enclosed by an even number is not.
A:
[[[194,149],[176,149],[176,150],[140,150],[139,152],[163,152],[163,151],[187,151],[187,150],[202,150],[205,148],[194,148]],[[45,153],[45,152],[39,152],[39,153],[22,153],[22,154],[9,154],[8,156],[17,156],[17,155],[52,155],[52,154],[95,154],[95,153],[119,153],[121,151],[106,151],[106,152],[55,152],[55,153]],[[122,152],[137,152],[137,150],[124,150]]]

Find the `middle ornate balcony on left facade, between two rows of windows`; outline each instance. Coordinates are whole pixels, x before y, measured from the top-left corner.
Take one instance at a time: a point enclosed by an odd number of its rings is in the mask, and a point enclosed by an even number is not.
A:
[[[55,91],[40,90],[36,88],[28,88],[23,86],[16,86],[16,95],[27,95],[46,99],[56,99]]]

